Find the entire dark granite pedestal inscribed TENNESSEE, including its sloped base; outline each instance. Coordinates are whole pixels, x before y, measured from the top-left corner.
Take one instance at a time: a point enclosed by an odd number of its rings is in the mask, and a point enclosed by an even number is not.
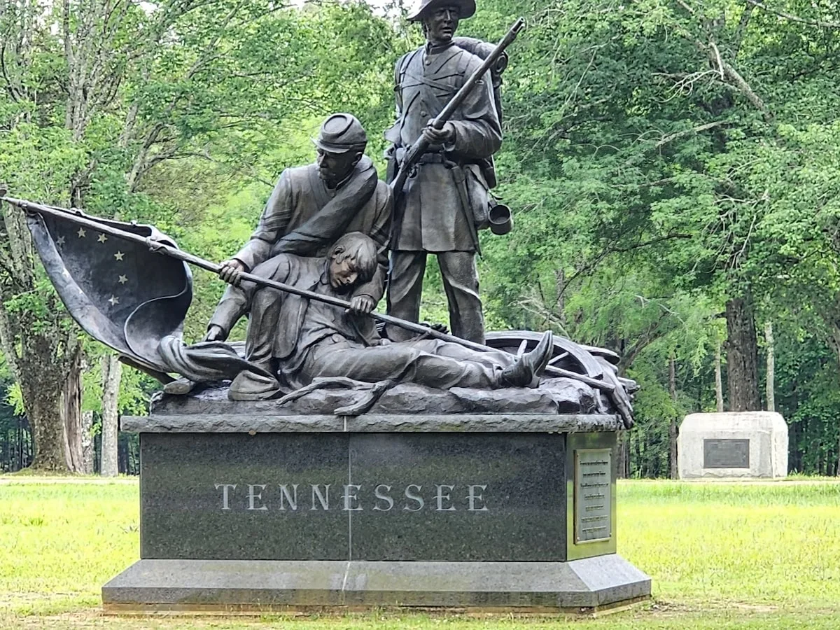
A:
[[[181,410],[182,411],[182,410]],[[106,612],[596,612],[616,554],[608,415],[189,415],[140,433],[140,560]]]

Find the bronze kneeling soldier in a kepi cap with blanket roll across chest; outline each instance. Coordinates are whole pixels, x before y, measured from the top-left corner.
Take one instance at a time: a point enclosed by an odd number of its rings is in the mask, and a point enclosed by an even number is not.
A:
[[[370,312],[384,292],[386,244],[391,228],[391,189],[376,176],[364,155],[367,135],[351,114],[328,117],[314,140],[315,164],[286,169],[265,204],[254,234],[219,275],[231,284],[207,325],[207,340],[227,339],[230,329],[251,307],[252,297],[241,284],[241,272],[270,277],[280,255],[323,256],[344,234],[361,232],[374,240],[378,266],[370,279],[348,296],[360,312]],[[255,286],[249,285],[251,291]],[[307,287],[308,288],[308,287]],[[250,335],[269,344],[276,323],[266,323]]]

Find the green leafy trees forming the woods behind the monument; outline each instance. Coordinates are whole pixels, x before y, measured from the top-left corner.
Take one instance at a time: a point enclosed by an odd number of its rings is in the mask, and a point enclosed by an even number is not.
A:
[[[496,40],[519,15],[497,159],[515,228],[482,234],[488,327],[553,328],[622,355],[642,385],[629,475],[672,473],[686,413],[762,408],[790,424],[793,470],[837,475],[835,4],[483,0],[459,34]],[[327,113],[355,113],[381,161],[393,62],[421,41],[402,16],[352,2],[3,0],[0,181],[155,223],[222,260],[277,174],[312,160]],[[142,412],[155,385],[80,336],[22,218],[5,206],[3,218],[8,398],[34,429],[35,466],[82,470],[91,412],[111,452],[117,413]],[[427,281],[424,315],[445,321],[433,265]],[[222,288],[197,273],[188,339]]]

